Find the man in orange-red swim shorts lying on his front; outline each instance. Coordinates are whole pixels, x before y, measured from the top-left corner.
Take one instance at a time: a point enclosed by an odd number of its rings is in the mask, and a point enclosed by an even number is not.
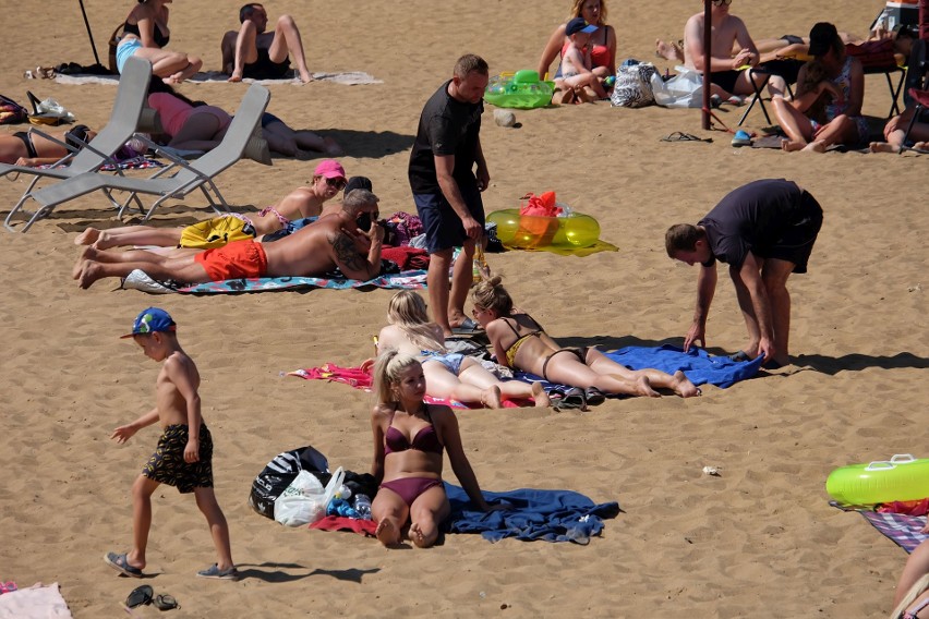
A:
[[[105,277],[125,277],[134,269],[158,280],[205,283],[256,277],[314,277],[338,267],[348,278],[367,280],[381,271],[384,229],[372,226],[361,231],[355,219],[362,213],[376,210],[377,196],[355,190],[346,197],[338,214],[323,217],[275,243],[236,241],[217,250],[184,250],[183,255],[177,256],[88,246],[72,275],[81,288],[89,288]]]

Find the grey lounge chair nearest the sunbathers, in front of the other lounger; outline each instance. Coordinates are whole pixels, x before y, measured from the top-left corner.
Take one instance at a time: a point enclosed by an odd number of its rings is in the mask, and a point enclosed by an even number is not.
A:
[[[226,199],[213,182],[213,177],[236,163],[242,157],[246,147],[250,147],[250,143],[251,146],[254,146],[255,133],[269,99],[270,93],[267,88],[260,84],[252,84],[245,93],[239,110],[232,118],[232,124],[229,125],[226,136],[216,148],[193,161],[169,157],[174,161],[174,165],[168,170],[177,170],[173,175],[166,177],[166,170],[160,170],[155,175],[145,179],[85,172],[33,193],[33,199],[41,206],[38,213],[48,214],[63,202],[98,190],[119,190],[130,192],[129,198],[120,208],[120,216],[132,202],[142,209],[142,201],[138,198],[138,194],[158,196],[145,214],[143,221],[147,221],[155,209],[166,199],[183,199],[186,194],[196,189],[203,192],[209,206],[218,215],[229,213],[229,205],[226,204]],[[261,139],[260,142],[264,141]],[[213,192],[213,195],[210,195],[210,192]],[[220,210],[220,206],[222,210]]]

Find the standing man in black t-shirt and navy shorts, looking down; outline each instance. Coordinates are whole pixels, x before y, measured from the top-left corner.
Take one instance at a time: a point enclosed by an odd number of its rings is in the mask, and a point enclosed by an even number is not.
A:
[[[484,234],[481,192],[491,181],[480,135],[487,82],[484,59],[470,53],[459,58],[451,80],[423,107],[410,154],[410,187],[430,254],[430,306],[446,336],[453,327],[473,328],[464,315],[464,301],[472,283],[474,248]],[[449,290],[448,269],[458,246],[463,251],[455,263]]]

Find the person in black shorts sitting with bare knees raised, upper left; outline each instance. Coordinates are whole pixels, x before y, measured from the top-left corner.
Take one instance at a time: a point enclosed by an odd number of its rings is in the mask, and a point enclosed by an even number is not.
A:
[[[266,33],[268,14],[264,7],[251,2],[239,10],[239,22],[242,26],[238,31],[222,36],[222,71],[229,74],[230,82],[241,82],[242,77],[283,77],[290,71],[289,57],[293,57],[302,82],[313,80],[306,69],[303,40],[293,17],[281,15],[274,32]]]

